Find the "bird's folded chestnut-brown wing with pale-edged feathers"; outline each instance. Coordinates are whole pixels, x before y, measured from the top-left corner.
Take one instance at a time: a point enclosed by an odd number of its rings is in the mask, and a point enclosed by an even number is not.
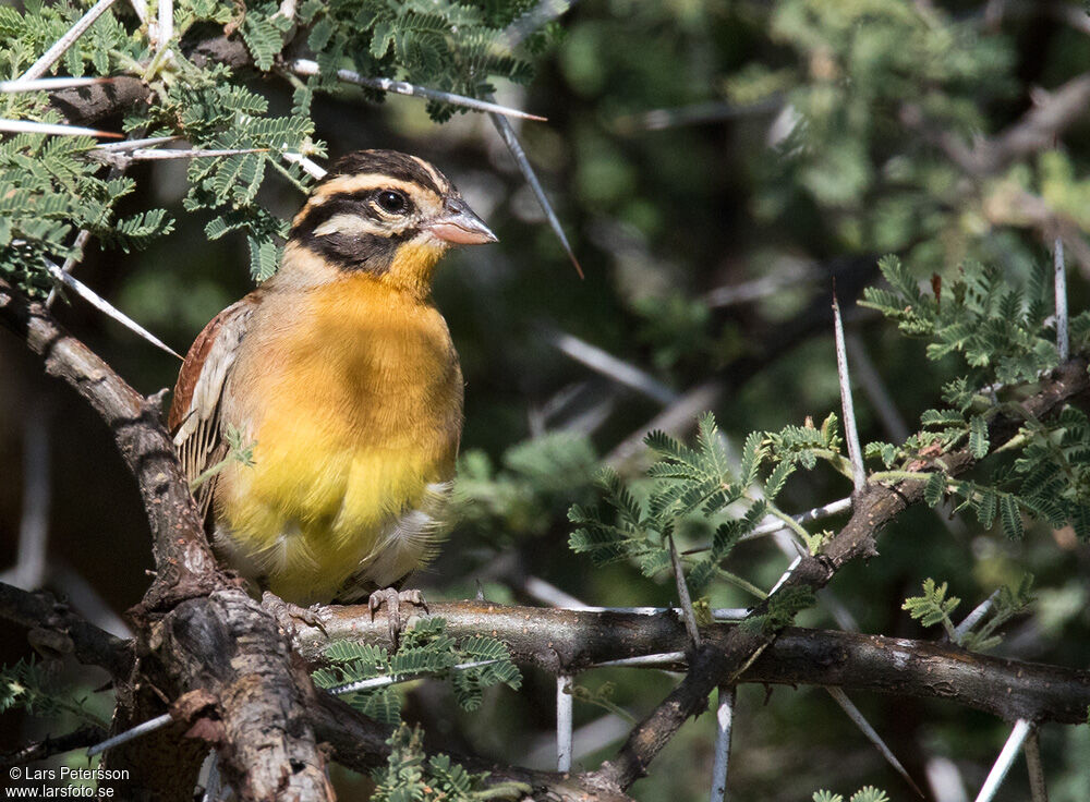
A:
[[[206,470],[227,458],[222,437],[220,398],[231,373],[247,323],[261,303],[261,291],[228,306],[204,327],[185,354],[167,423],[174,435],[174,448],[185,478],[193,482]],[[216,477],[202,483],[194,496],[202,517],[211,506]]]

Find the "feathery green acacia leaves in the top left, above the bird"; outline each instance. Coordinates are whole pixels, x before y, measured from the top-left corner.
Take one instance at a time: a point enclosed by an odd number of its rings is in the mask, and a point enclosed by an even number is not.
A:
[[[251,274],[261,281],[279,264],[288,222],[274,217],[257,200],[269,172],[305,192],[312,183],[283,153],[323,154],[312,141],[314,125],[308,98],[315,87],[331,88],[338,66],[354,66],[365,75],[405,77],[462,94],[493,89],[492,76],[526,81],[526,60],[505,49],[502,27],[526,11],[526,0],[462,4],[458,2],[389,2],[339,0],[304,2],[300,20],[311,24],[323,75],[301,84],[290,113],[268,113],[266,99],[239,83],[222,65],[197,66],[173,48],[171,58],[152,58],[144,32],[116,9],[107,11],[68,50],[60,63],[71,75],[135,74],[147,81],[152,102],[130,112],[124,130],[135,137],[175,134],[208,149],[256,149],[216,159],[192,159],[185,197],[186,211],[215,214],[205,233],[209,239],[242,232],[250,246]],[[281,58],[293,22],[278,13],[279,3],[251,3],[232,9],[207,0],[180,2],[175,35],[181,40],[195,25],[237,26],[258,70],[271,70]],[[25,13],[0,9],[0,73],[21,74],[83,13],[78,3],[27,3]],[[525,47],[538,49],[546,34],[536,34]],[[162,51],[160,51],[161,53]],[[451,109],[433,104],[433,117],[446,119]],[[0,95],[0,117],[60,122],[45,93]],[[74,233],[86,229],[104,245],[145,247],[169,233],[172,221],[161,209],[117,219],[118,198],[133,189],[128,179],[104,180],[104,168],[89,160],[95,147],[81,137],[20,136],[0,146],[0,276],[33,294],[51,284],[43,259],[63,262],[76,255]]]

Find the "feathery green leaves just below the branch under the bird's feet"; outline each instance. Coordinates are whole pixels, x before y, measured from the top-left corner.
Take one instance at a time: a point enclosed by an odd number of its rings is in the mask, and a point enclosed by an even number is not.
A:
[[[393,654],[368,644],[335,642],[325,652],[329,666],[314,671],[314,682],[319,688],[338,689],[380,677],[395,682],[445,677],[458,704],[467,710],[481,706],[485,688],[500,683],[516,690],[520,686],[522,675],[502,643],[484,635],[457,642],[446,634],[446,628],[441,618],[422,618],[402,634]],[[456,668],[468,663],[487,665]],[[343,693],[341,697],[378,721],[400,721],[401,697],[391,684]]]

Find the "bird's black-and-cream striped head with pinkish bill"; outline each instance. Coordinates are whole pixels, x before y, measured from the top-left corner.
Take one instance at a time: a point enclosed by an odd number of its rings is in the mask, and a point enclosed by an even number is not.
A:
[[[428,162],[397,150],[359,150],[337,161],[295,216],[284,267],[316,257],[325,268],[426,289],[452,245],[496,239]]]

